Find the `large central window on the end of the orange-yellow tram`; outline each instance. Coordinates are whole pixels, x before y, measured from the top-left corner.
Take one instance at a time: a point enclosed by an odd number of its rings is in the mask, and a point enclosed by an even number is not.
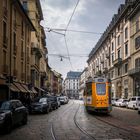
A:
[[[106,84],[96,84],[96,92],[98,95],[105,95]]]

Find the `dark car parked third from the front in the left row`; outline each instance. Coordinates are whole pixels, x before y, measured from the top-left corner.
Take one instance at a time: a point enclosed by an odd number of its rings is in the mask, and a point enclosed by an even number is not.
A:
[[[48,98],[49,103],[51,104],[52,109],[57,109],[58,108],[58,102],[57,102],[57,97],[56,96],[51,96],[51,95],[46,95]]]

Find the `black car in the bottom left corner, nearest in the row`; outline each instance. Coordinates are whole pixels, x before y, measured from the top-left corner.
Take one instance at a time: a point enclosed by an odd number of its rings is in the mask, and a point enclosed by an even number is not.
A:
[[[4,101],[0,104],[0,130],[9,133],[12,126],[27,124],[28,110],[19,100]]]

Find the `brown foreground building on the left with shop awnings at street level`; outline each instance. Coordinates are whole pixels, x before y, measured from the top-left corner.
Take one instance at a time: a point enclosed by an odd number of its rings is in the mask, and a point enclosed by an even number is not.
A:
[[[2,0],[0,9],[0,100],[5,100],[33,93],[29,50],[35,28],[19,0]]]

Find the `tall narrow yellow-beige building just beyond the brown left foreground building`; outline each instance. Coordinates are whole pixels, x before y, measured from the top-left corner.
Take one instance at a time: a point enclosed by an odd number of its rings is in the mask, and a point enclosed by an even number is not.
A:
[[[35,27],[31,32],[31,84],[42,94],[45,88],[46,73],[46,36],[43,27],[40,25],[43,20],[40,0],[21,0],[24,9]]]

